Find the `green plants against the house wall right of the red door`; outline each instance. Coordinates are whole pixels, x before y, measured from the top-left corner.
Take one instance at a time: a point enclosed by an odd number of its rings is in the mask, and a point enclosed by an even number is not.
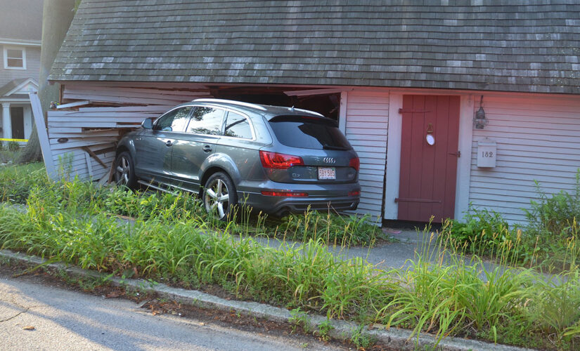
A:
[[[538,183],[536,190],[539,200],[531,201],[531,209],[524,210],[526,225],[508,225],[499,213],[470,208],[465,220],[443,224],[439,240],[463,253],[484,257],[509,254],[512,264],[548,272],[564,269],[568,265],[567,251],[580,252],[579,246],[570,247],[576,240],[576,221],[580,219],[580,171],[572,193],[548,195]]]

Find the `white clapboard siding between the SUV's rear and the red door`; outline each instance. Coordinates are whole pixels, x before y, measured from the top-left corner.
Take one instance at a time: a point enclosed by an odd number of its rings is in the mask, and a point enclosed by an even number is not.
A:
[[[382,218],[382,196],[387,159],[389,95],[349,91],[346,134],[361,159],[361,202],[356,213]]]

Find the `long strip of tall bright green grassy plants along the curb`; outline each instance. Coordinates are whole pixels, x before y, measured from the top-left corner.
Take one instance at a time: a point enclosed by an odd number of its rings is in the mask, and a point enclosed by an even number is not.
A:
[[[3,191],[3,199],[22,199]],[[183,194],[151,197],[74,181],[39,182],[27,194],[27,211],[0,206],[3,249],[183,287],[218,284],[238,298],[296,309],[295,324],[302,328],[308,320],[301,311],[314,311],[361,325],[427,331],[439,340],[465,336],[558,350],[579,346],[580,227],[575,222],[561,257],[565,270],[558,276],[505,265],[489,268],[477,256],[468,262],[444,240],[436,249],[425,246],[404,270],[379,270],[361,258],[342,260],[328,251],[325,243],[333,240],[325,236],[328,225],[321,224],[326,215],[314,220],[324,228],[320,234],[300,232],[314,230],[307,219],[309,224],[296,231],[303,244],[273,249],[248,235],[262,232],[264,223],[236,235],[228,233],[238,223],[224,223],[216,232],[211,218],[200,219],[196,200]],[[136,220],[127,223],[112,213]],[[498,264],[508,263],[517,245],[506,239],[488,254]],[[372,343],[363,328],[353,338],[360,347]]]

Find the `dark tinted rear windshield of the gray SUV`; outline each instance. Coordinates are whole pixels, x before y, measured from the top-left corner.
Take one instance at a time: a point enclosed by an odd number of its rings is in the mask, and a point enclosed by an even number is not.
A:
[[[318,117],[276,116],[269,121],[280,143],[290,147],[350,150],[336,121]]]

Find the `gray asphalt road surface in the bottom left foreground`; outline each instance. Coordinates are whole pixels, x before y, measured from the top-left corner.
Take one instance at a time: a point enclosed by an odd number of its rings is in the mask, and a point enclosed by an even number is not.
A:
[[[0,272],[1,350],[344,350],[304,336],[153,315],[129,300],[48,284]]]

